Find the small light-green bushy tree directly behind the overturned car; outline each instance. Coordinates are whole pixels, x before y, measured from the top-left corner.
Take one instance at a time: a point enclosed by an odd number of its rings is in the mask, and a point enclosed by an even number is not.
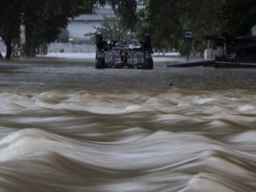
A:
[[[93,26],[93,28],[96,30],[95,32],[84,34],[84,36],[90,36],[93,41],[96,40],[98,33],[102,34],[104,40],[129,40],[134,37],[130,30],[126,30],[122,26],[121,20],[116,16],[104,16],[101,26]]]

